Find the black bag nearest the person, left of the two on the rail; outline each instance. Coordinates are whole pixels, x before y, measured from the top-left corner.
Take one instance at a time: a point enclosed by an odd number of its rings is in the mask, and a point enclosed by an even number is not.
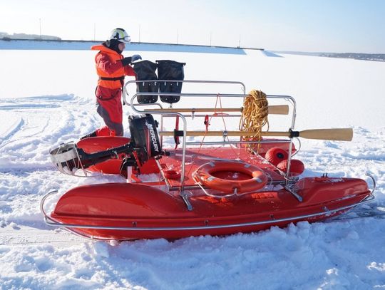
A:
[[[138,61],[133,63],[137,81],[154,81],[136,83],[136,91],[141,93],[158,93],[159,83],[156,76],[158,64],[151,61]],[[156,81],[155,81],[156,80]],[[139,95],[138,102],[141,104],[155,103],[158,95]]]

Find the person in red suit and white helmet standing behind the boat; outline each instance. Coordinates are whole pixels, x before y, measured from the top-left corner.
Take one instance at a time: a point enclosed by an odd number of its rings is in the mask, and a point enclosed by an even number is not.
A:
[[[123,136],[122,91],[125,76],[135,76],[131,63],[142,59],[138,54],[122,55],[130,36],[124,29],[113,29],[108,41],[91,49],[99,51],[95,56],[96,73],[99,76],[95,90],[96,110],[106,126],[83,136],[81,139],[97,136]]]

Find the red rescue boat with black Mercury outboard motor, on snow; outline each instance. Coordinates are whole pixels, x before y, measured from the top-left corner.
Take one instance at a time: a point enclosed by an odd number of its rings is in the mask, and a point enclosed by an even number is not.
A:
[[[139,111],[135,105],[133,109],[146,115],[130,117],[131,138],[87,138],[51,150],[51,158],[62,172],[120,174],[128,182],[75,187],[61,196],[48,214],[45,201],[56,191],[50,192],[41,202],[47,224],[91,239],[178,239],[255,232],[299,221],[320,222],[374,198],[374,190],[361,179],[306,177],[299,160],[290,172],[296,151],[293,138],[351,140],[350,129],[297,132],[292,126],[284,133],[288,139],[266,139],[284,134],[262,131],[265,137],[257,140],[230,140],[231,135],[245,136],[245,132],[222,131],[223,141],[200,140],[197,144],[188,143],[188,135],[220,134],[185,129],[158,132],[149,110]],[[163,117],[186,111],[173,110],[150,112]],[[162,139],[183,137],[183,145],[165,151],[159,135]],[[272,157],[274,152],[279,155]],[[283,157],[287,158],[286,172],[277,167]]]

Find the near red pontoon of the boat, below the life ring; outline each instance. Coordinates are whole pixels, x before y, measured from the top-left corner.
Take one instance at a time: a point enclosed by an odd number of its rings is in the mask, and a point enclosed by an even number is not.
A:
[[[193,195],[193,210],[188,210],[180,196],[148,185],[86,185],[66,192],[51,219],[93,239],[178,239],[319,222],[346,212],[370,193],[359,179],[304,178],[297,186],[303,188],[297,192],[302,202],[284,189],[229,199]]]

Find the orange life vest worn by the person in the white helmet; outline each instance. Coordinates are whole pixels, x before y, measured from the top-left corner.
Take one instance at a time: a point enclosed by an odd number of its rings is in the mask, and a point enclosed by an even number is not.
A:
[[[96,73],[99,76],[98,86],[111,89],[122,88],[124,76],[127,75],[127,73],[125,72],[125,68],[121,64],[123,56],[117,53],[116,51],[113,51],[111,48],[108,48],[101,44],[97,46],[92,46],[91,50],[99,51],[99,53],[95,56]],[[101,61],[98,61],[100,59],[100,54],[102,54],[103,56],[107,56],[108,60],[111,62],[111,66],[115,67],[116,70],[110,70],[109,72],[107,72],[105,67],[103,66],[103,63],[101,63]]]

